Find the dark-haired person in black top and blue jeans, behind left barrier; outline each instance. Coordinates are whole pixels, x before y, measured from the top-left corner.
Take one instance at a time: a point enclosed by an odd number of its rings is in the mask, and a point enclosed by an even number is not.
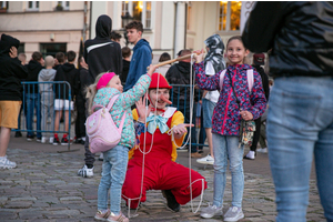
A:
[[[32,141],[33,135],[33,110],[36,109],[37,113],[37,142],[41,141],[41,103],[40,103],[40,93],[38,90],[38,74],[40,70],[43,69],[44,59],[42,54],[38,51],[32,53],[32,59],[27,64],[28,68],[28,78],[27,82],[34,82],[27,84],[26,88],[26,101],[27,101],[27,140]]]

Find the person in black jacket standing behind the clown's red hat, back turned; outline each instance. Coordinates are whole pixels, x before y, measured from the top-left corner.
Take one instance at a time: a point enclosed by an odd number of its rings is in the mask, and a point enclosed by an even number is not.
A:
[[[181,50],[178,56],[184,57],[186,54],[191,54],[191,50],[184,49]],[[182,84],[182,87],[173,87],[173,97],[171,98],[172,103],[178,107],[178,110],[184,113],[185,122],[191,122],[195,124],[195,105],[193,103],[193,115],[192,120],[190,120],[190,98],[191,93],[189,88],[184,85],[190,84],[190,72],[191,72],[191,59],[186,59],[183,61],[180,61],[168,70],[165,78],[170,84]],[[194,78],[194,71],[193,74],[193,82],[195,80]],[[194,93],[195,101],[198,101],[196,98],[198,93]],[[195,128],[191,128],[191,142],[196,143],[196,132]],[[184,140],[186,141],[186,139]],[[201,154],[198,152],[198,147],[192,145],[191,147],[191,157],[192,158],[201,158]]]

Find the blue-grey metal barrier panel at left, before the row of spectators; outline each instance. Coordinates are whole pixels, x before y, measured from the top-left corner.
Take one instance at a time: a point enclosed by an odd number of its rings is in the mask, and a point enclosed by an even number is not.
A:
[[[29,141],[37,138],[39,142],[68,145],[68,151],[77,151],[70,149],[71,124],[75,113],[72,101],[73,91],[69,82],[22,82],[22,87],[19,127],[13,131],[27,132]],[[57,140],[54,133],[63,133],[67,137],[61,139],[58,135]]]

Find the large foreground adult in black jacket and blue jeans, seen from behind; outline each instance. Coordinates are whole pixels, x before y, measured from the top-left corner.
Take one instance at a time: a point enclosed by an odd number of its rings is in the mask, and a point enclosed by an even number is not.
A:
[[[313,154],[324,215],[333,221],[333,2],[258,2],[243,32],[270,56],[268,114],[278,222],[306,221]]]

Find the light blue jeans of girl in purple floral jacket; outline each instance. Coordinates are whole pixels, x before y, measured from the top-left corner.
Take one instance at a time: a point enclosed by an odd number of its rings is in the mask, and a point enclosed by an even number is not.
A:
[[[222,206],[226,183],[228,159],[230,161],[232,205],[242,206],[244,191],[243,153],[244,147],[239,148],[239,137],[213,133],[214,152],[214,202]]]

